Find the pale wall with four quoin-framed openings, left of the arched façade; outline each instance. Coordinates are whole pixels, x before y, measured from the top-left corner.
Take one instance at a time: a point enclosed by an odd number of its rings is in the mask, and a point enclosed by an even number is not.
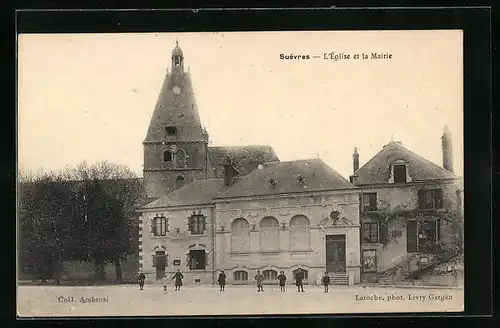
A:
[[[151,220],[158,214],[168,219],[166,236],[154,236],[151,231]],[[201,235],[193,235],[189,231],[189,217],[200,213],[206,218],[206,230]],[[156,268],[153,267],[153,255],[156,250],[164,250],[167,255],[165,272],[172,276],[177,269],[184,275],[184,284],[211,284],[213,282],[213,208],[209,206],[185,207],[177,209],[158,209],[155,212],[144,212],[141,217],[143,227],[142,269],[149,281],[156,281]],[[207,253],[205,270],[191,270],[188,262],[190,250],[204,250]],[[178,261],[179,265],[174,265]],[[196,281],[195,280],[199,280]]]

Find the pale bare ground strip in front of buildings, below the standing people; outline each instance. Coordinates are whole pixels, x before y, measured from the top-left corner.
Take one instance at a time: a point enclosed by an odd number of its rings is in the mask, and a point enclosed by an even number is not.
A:
[[[277,286],[183,287],[165,293],[158,285],[139,290],[134,285],[103,287],[20,286],[17,309],[21,317],[39,316],[182,316],[339,314],[377,312],[463,311],[463,289],[404,287]]]

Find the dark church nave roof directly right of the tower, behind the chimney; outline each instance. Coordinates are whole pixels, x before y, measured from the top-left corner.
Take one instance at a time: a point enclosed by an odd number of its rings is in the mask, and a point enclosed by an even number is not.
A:
[[[279,161],[271,146],[237,146],[237,147],[209,147],[209,174],[213,178],[224,176],[224,163],[229,157],[239,171],[239,175],[247,175],[255,170],[259,164]]]

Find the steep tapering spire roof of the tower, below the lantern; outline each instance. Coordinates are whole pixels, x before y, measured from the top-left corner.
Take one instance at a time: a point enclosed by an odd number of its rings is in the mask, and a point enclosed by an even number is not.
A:
[[[178,140],[205,140],[189,73],[166,75],[144,141],[164,141],[165,126],[177,128]]]

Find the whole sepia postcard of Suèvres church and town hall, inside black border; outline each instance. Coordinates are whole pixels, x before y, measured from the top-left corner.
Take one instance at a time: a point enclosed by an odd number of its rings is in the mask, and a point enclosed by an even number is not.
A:
[[[17,46],[18,316],[464,311],[462,30]]]

